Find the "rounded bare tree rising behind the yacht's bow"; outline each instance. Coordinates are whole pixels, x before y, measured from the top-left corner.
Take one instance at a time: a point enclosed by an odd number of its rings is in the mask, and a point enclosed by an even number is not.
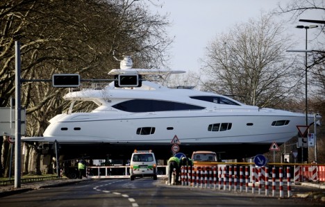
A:
[[[274,107],[282,103],[283,107],[299,83],[294,62],[285,56],[291,45],[272,15],[235,25],[206,47],[202,70],[210,78],[205,90],[236,96],[245,104]]]

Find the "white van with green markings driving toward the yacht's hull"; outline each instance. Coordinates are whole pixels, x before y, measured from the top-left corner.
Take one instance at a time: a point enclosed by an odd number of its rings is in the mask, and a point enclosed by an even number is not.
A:
[[[150,151],[137,151],[135,150],[131,157],[130,163],[130,179],[134,180],[135,177],[153,177],[157,179],[157,163],[155,154]]]

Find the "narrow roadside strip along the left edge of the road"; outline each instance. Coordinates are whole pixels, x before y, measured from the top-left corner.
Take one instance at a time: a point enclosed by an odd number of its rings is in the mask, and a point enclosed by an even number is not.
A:
[[[28,190],[35,190],[39,188],[55,187],[60,185],[69,185],[86,181],[87,179],[56,179],[50,181],[39,181],[33,183],[21,183],[20,188],[15,188],[14,185],[6,185],[0,187],[0,198],[11,194],[26,192]]]

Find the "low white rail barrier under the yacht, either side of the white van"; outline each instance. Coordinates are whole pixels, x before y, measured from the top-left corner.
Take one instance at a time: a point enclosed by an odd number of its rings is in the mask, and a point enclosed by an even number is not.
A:
[[[87,166],[86,176],[88,179],[115,179],[130,178],[130,166],[111,165],[111,166]],[[167,165],[157,166],[157,177],[167,178]]]

